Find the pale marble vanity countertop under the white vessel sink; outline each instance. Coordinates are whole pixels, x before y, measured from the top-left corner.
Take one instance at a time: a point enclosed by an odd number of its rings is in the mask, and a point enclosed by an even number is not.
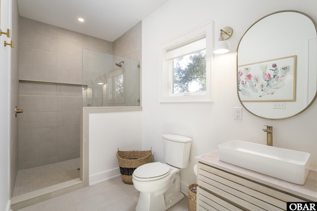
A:
[[[197,156],[196,160],[207,165],[219,168],[221,170],[228,171],[235,175],[245,177],[255,182],[262,183],[274,189],[278,189],[290,194],[294,194],[301,198],[317,202],[317,172],[315,170],[310,170],[304,185],[297,185],[220,161],[218,158],[218,150],[214,150],[201,156]]]

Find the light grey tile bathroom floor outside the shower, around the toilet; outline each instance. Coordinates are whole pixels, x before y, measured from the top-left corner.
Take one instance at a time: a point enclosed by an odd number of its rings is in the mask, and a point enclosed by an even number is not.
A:
[[[19,211],[135,211],[139,192],[121,177],[85,187]],[[168,209],[188,211],[188,198]]]

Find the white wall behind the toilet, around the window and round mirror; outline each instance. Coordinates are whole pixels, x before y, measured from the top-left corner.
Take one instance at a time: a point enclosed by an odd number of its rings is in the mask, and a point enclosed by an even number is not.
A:
[[[193,139],[190,166],[181,171],[182,190],[196,182],[195,157],[233,139],[266,144],[263,125],[273,126],[273,146],[311,153],[317,165],[317,102],[305,112],[284,120],[266,120],[243,110],[233,120],[233,107],[242,107],[236,91],[236,48],[244,32],[258,19],[279,10],[299,10],[317,21],[316,0],[170,0],[143,20],[142,89],[143,149],[153,147],[154,159],[163,161],[162,134]],[[225,26],[233,28],[227,40],[230,52],[213,57],[213,103],[159,104],[159,45],[213,21],[213,40]],[[291,33],[291,32],[290,32]]]

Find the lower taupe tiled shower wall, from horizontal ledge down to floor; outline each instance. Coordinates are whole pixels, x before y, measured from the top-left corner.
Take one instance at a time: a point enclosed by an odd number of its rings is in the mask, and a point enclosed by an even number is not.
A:
[[[81,90],[20,81],[19,169],[79,158]]]

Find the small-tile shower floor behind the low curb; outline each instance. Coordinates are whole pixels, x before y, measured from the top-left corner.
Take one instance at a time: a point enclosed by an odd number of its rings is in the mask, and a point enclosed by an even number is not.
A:
[[[18,171],[13,197],[79,178],[79,158]]]

